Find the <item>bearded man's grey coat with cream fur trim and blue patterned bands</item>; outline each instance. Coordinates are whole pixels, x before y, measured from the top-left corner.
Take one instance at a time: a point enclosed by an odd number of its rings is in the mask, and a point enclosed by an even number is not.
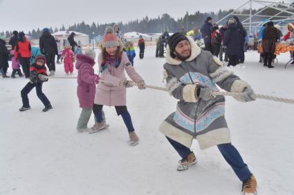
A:
[[[159,130],[187,147],[196,138],[202,150],[230,143],[230,130],[224,116],[224,96],[204,101],[195,95],[196,88],[219,91],[219,85],[228,92],[243,92],[250,85],[223,66],[217,57],[201,50],[192,39],[189,41],[191,56],[185,61],[173,59],[167,46],[164,64],[166,88],[179,101],[176,112],[167,116]]]

